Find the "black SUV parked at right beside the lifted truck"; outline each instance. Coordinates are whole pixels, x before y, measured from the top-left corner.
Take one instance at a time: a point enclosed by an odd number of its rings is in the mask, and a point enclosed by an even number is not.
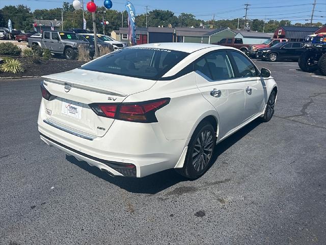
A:
[[[302,42],[279,42],[271,47],[260,48],[256,58],[268,61],[295,60],[305,51]]]

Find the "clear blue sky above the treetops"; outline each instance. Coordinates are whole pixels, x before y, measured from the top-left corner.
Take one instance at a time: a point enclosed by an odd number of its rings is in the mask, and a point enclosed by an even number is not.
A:
[[[35,9],[50,9],[62,7],[63,2],[72,3],[73,0],[1,0],[0,8],[5,5],[23,4]],[[81,0],[80,0],[81,1]],[[84,0],[84,4],[89,0]],[[96,5],[103,6],[103,0],[95,0]],[[124,0],[112,1],[115,10],[124,10]],[[244,16],[244,4],[251,4],[248,10],[249,19],[290,19],[292,23],[308,22],[310,19],[313,0],[131,0],[137,14],[146,12],[146,5],[149,11],[153,9],[163,9],[173,11],[176,15],[181,12],[192,13],[197,18],[209,20],[215,19],[233,19]],[[317,0],[315,8],[314,22],[326,22],[326,2]],[[321,17],[322,16],[322,17]]]

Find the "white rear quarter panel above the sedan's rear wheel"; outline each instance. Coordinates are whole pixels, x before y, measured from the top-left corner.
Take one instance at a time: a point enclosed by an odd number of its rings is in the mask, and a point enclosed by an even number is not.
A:
[[[133,94],[124,102],[138,102],[169,97],[169,105],[156,111],[160,128],[168,140],[191,138],[199,122],[212,115],[218,119],[214,107],[197,88],[195,72],[171,81],[157,81],[149,90]]]

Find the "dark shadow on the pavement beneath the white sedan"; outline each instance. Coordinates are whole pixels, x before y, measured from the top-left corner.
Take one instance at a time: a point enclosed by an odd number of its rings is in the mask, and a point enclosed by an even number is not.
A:
[[[234,143],[240,140],[243,136],[247,135],[250,131],[255,129],[259,124],[260,122],[255,120],[218,144],[212,156],[213,164],[219,164],[219,162],[216,163],[218,157],[227,149],[229,149]],[[87,162],[79,161],[73,156],[67,155],[66,160],[80,168],[83,168],[89,173],[132,193],[156,194],[179,182],[192,181],[180,176],[174,169],[164,170],[143,178],[111,177],[106,172],[101,171],[97,167],[92,167]]]

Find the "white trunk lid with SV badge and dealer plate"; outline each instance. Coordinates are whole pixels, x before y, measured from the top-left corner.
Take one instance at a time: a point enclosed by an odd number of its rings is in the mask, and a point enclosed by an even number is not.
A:
[[[43,100],[47,119],[97,137],[110,129],[114,119],[96,115],[89,104],[121,103],[128,95],[147,90],[156,82],[83,69],[43,78],[45,89],[57,96],[50,101]]]

